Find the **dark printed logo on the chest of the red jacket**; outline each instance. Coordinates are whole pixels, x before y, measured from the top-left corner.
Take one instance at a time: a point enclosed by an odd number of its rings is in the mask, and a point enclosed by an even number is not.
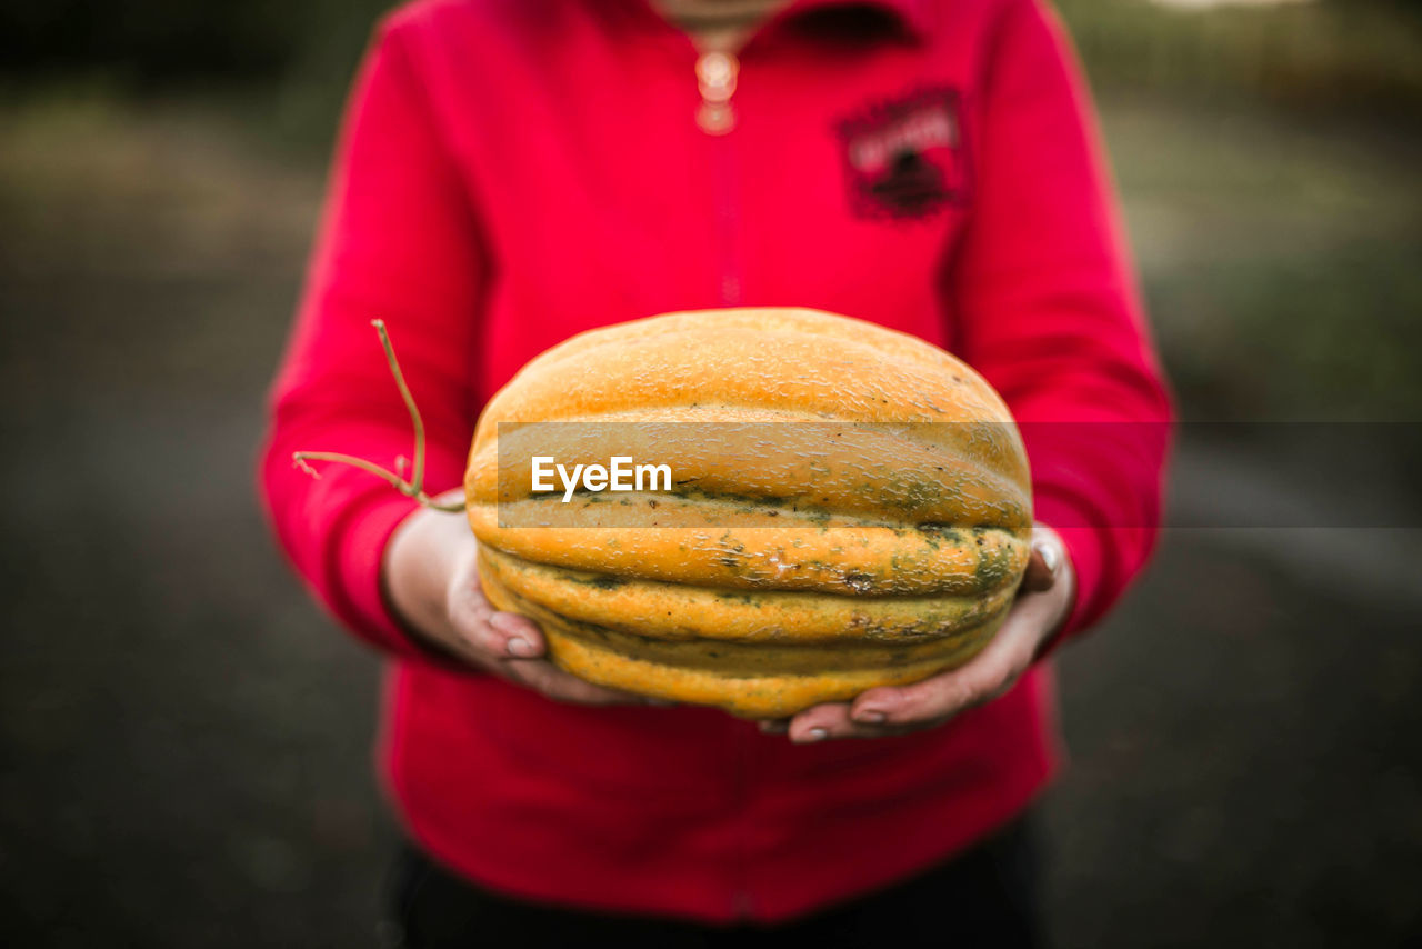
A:
[[[836,124],[860,218],[927,218],[968,199],[958,91],[920,88]]]

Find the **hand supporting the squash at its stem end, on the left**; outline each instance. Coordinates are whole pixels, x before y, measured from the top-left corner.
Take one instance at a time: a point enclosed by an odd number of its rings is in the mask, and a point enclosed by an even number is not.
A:
[[[462,495],[451,492],[435,501],[449,497]],[[651,704],[557,669],[547,660],[547,640],[538,623],[496,610],[479,586],[478,542],[459,515],[431,509],[410,515],[385,548],[381,579],[405,627],[445,657],[557,701]]]

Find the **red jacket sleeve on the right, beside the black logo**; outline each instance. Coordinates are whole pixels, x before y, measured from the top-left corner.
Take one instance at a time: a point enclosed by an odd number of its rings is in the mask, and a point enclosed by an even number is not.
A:
[[[1089,97],[1039,0],[1008,7],[987,70],[973,219],[948,286],[960,351],[1021,424],[1037,518],[1062,534],[1076,568],[1071,633],[1150,553],[1170,403]]]

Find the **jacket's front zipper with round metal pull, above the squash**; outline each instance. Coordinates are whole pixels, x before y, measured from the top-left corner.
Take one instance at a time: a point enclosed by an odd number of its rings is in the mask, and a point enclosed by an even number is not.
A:
[[[731,132],[735,131],[737,114],[731,97],[735,95],[741,63],[731,53],[710,51],[697,57],[697,90],[701,102],[697,107],[697,127],[711,138],[712,166],[715,169],[715,226],[718,280],[717,299],[721,306],[739,306],[741,262],[737,238],[741,215],[738,202],[738,181],[735,149]]]

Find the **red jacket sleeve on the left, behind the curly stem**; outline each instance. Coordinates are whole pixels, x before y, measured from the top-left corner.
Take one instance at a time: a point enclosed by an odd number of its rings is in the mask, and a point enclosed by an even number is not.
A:
[[[485,255],[448,144],[398,30],[367,53],[347,107],[296,326],[270,391],[260,487],[296,569],[348,627],[414,654],[380,589],[390,535],[415,507],[338,451],[394,468],[410,417],[371,320],[384,319],[428,433],[427,489],[461,484],[475,405],[474,347]],[[454,516],[454,515],[451,515]]]

